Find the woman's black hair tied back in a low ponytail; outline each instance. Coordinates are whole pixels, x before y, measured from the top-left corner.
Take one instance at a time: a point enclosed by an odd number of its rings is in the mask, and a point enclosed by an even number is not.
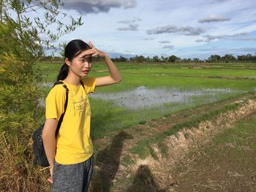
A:
[[[75,58],[77,55],[82,53],[83,50],[89,50],[91,47],[86,43],[83,42],[80,39],[75,39],[69,42],[65,47],[64,56],[65,58],[68,58],[69,61],[72,61],[73,58]],[[59,70],[59,75],[57,77],[57,80],[64,80],[67,77],[67,74],[69,73],[69,66],[64,63],[61,66],[61,69]]]

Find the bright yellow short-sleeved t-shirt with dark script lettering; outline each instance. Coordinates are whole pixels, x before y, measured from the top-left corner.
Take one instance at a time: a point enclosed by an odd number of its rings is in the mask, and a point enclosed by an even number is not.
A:
[[[56,139],[56,157],[59,164],[78,164],[89,159],[94,152],[90,137],[91,107],[87,94],[95,91],[95,78],[86,77],[82,85],[64,82],[69,89],[67,110]],[[66,89],[55,85],[45,101],[47,119],[59,120],[64,112]]]

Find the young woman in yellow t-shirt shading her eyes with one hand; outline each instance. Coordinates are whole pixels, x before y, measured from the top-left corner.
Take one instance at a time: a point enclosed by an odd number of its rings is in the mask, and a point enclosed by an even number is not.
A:
[[[81,40],[69,42],[65,48],[65,64],[61,66],[58,80],[69,89],[67,110],[59,134],[56,126],[64,112],[66,90],[54,86],[45,101],[45,126],[42,139],[50,164],[50,191],[88,191],[93,172],[93,145],[90,137],[91,108],[87,94],[95,88],[121,81],[121,75],[106,53]],[[87,77],[92,57],[105,60],[110,72],[105,77]],[[84,88],[83,88],[83,85]]]

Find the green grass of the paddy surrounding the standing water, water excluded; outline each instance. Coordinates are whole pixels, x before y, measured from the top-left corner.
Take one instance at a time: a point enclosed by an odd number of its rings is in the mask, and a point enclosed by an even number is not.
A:
[[[255,91],[256,64],[116,64],[123,81],[117,85],[97,88],[97,93],[124,93],[144,86],[148,89],[165,88],[178,91],[204,91],[210,89],[228,89],[228,93],[205,93],[202,96],[190,96],[189,101],[169,102],[154,105],[151,108],[129,110],[117,106],[113,100],[91,98],[92,138],[111,136],[138,123],[171,115],[201,104],[221,101]],[[61,64],[37,64],[44,82],[54,82]],[[108,75],[105,64],[93,64],[89,76]],[[219,78],[222,77],[222,78]],[[232,78],[237,79],[232,79]],[[45,88],[45,95],[50,88]],[[214,99],[213,99],[214,97]],[[131,100],[132,102],[132,100]],[[43,118],[42,118],[43,120]]]

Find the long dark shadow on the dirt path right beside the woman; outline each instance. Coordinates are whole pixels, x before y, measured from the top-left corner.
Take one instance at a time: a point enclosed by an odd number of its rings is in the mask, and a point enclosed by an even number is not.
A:
[[[121,131],[113,138],[111,145],[100,151],[95,158],[95,174],[91,182],[93,192],[108,192],[118,171],[121,151],[125,139],[132,139],[132,135]],[[97,168],[96,168],[97,167]]]

